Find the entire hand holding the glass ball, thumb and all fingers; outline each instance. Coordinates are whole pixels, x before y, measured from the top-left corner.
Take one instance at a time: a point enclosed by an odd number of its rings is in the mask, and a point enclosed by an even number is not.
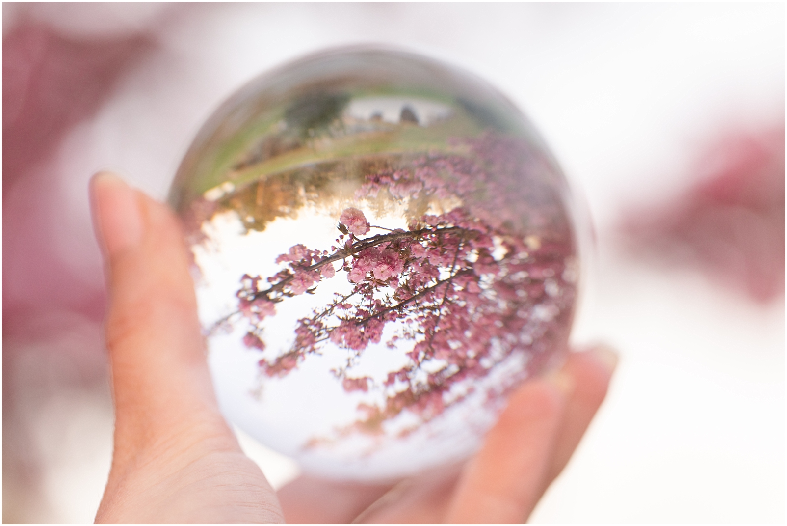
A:
[[[220,414],[179,221],[108,172],[91,180],[91,203],[116,412],[96,522],[522,522],[567,464],[615,369],[603,346],[569,354],[560,371],[512,394],[463,465],[397,483],[301,476],[277,495]]]

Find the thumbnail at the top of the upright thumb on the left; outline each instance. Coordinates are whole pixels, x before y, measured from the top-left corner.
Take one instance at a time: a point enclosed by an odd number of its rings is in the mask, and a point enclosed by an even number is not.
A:
[[[134,190],[111,172],[98,172],[91,180],[96,235],[106,254],[113,257],[142,241],[142,214]]]

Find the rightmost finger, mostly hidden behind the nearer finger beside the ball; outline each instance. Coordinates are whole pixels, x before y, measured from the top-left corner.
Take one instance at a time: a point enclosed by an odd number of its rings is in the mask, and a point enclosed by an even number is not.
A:
[[[617,363],[617,354],[608,346],[569,354],[563,372],[571,377],[574,390],[567,402],[544,491],[566,467],[601,402],[604,402]]]

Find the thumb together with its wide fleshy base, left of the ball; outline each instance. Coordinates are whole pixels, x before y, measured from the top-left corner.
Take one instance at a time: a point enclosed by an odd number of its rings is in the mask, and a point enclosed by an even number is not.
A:
[[[93,178],[91,198],[115,404],[96,522],[283,522],[219,412],[178,220],[110,174]]]

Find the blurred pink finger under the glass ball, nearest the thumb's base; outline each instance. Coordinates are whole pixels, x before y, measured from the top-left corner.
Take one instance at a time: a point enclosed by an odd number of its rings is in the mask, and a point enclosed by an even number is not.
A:
[[[347,524],[393,487],[300,476],[279,492],[288,523]]]

